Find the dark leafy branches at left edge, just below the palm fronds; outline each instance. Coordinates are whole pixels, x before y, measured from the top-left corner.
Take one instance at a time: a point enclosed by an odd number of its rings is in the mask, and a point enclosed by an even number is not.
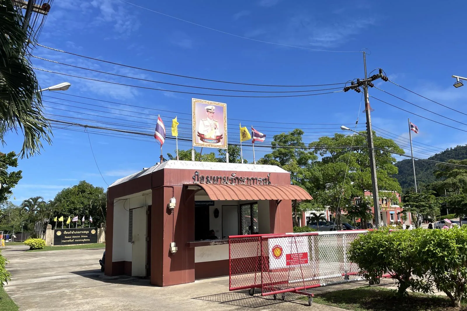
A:
[[[11,191],[22,178],[22,171],[10,171],[9,168],[18,167],[18,157],[13,151],[5,154],[0,153],[0,203],[10,198]]]

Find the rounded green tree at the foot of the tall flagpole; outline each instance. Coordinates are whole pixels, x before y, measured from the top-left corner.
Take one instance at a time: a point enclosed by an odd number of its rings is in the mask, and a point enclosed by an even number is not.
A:
[[[415,226],[421,225],[423,215],[436,217],[439,215],[440,201],[435,197],[435,191],[421,190],[420,192],[409,192],[403,197],[404,213],[413,215]]]

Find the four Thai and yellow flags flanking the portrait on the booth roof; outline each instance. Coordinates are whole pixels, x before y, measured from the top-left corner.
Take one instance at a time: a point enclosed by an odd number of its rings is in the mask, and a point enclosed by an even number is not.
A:
[[[177,121],[177,116],[175,119],[172,119],[172,136],[175,136],[176,139],[176,148],[177,148],[177,160],[178,160],[178,121]],[[157,116],[157,123],[156,123],[156,130],[154,131],[154,138],[159,141],[161,145],[161,163],[162,163],[162,145],[165,142],[165,126],[164,122],[161,119],[161,116]],[[262,134],[261,132],[255,130],[253,126],[251,126],[251,134],[248,131],[247,127],[241,127],[240,124],[240,148],[242,148],[241,143],[243,141],[249,141],[251,139],[251,142],[253,144],[253,163],[256,163],[255,161],[255,141],[263,142],[266,139],[266,135]],[[243,163],[243,150],[241,149],[241,163]]]

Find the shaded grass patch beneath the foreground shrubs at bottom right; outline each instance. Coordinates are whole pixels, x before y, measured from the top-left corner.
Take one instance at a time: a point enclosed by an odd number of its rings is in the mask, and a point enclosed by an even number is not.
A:
[[[424,295],[410,292],[402,301],[396,298],[396,291],[384,288],[363,287],[354,290],[339,290],[318,294],[313,303],[326,304],[353,311],[459,311],[467,310],[466,302],[460,309],[451,307],[451,300],[445,296]]]

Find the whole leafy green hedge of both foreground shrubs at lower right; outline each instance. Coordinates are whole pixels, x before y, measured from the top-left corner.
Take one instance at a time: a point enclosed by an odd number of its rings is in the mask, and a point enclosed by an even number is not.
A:
[[[407,289],[430,293],[433,285],[453,306],[460,307],[461,298],[467,297],[467,226],[362,234],[350,243],[349,260],[370,283],[390,273],[398,281],[399,297]]]

